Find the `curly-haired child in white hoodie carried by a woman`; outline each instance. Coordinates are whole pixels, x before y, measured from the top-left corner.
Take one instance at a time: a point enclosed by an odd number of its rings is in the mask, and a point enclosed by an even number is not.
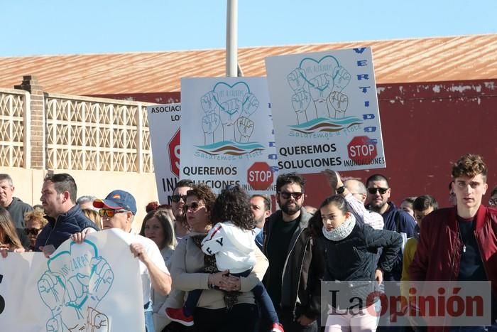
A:
[[[255,220],[249,204],[249,196],[239,186],[228,186],[217,196],[212,208],[212,220],[220,221],[202,240],[202,251],[205,255],[215,255],[219,271],[229,271],[234,277],[247,277],[256,263],[254,250]],[[261,306],[261,312],[271,321],[272,332],[283,332],[278,315],[269,297],[266,287],[259,282],[252,289],[254,297]],[[202,289],[190,291],[181,309],[167,308],[166,315],[172,321],[186,326],[193,325],[192,313]],[[236,301],[236,296],[234,297]],[[226,301],[226,297],[225,297]]]

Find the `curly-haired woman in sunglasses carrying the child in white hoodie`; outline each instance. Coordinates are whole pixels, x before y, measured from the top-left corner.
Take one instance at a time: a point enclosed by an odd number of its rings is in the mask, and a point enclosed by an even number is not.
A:
[[[266,273],[268,262],[260,250],[256,249],[256,262],[248,277],[230,277],[227,271],[217,272],[214,256],[204,255],[202,240],[212,228],[212,206],[215,196],[211,188],[200,183],[187,192],[185,220],[191,229],[173,254],[171,276],[173,289],[193,291],[202,289],[202,294],[193,310],[195,331],[254,331],[257,320],[257,308],[251,289],[261,282]],[[211,273],[213,272],[213,273]],[[236,291],[234,296],[227,292]],[[228,293],[229,294],[229,293]],[[182,307],[182,303],[170,304],[168,307]],[[192,325],[192,321],[190,321]]]

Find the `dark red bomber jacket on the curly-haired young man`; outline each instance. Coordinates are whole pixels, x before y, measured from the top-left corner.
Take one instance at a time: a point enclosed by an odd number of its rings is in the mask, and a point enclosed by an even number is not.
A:
[[[457,208],[433,211],[422,221],[420,241],[410,264],[411,280],[457,280],[461,248]],[[497,295],[497,209],[480,205],[476,212],[474,236],[479,247],[486,277]],[[449,328],[444,328],[448,331]],[[443,331],[429,328],[428,331]]]

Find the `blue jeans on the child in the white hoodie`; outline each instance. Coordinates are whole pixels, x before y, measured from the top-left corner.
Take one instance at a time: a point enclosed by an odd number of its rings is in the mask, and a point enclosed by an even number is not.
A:
[[[250,272],[252,272],[252,269],[240,273],[231,273],[229,275],[234,277],[247,277]],[[278,314],[276,314],[276,310],[274,309],[273,301],[271,301],[271,297],[269,297],[268,291],[266,291],[266,287],[264,287],[262,282],[256,284],[256,287],[253,287],[251,291],[253,292],[253,298],[256,299],[257,304],[261,306],[261,313],[263,316],[265,316],[268,321],[271,321],[271,323],[279,323],[280,321],[278,319]],[[202,289],[194,289],[188,292],[185,306],[183,307],[185,315],[191,316],[193,314],[201,294]]]

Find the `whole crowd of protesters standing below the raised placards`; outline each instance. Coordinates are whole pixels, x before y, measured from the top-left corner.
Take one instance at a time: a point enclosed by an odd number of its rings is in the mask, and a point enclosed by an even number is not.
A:
[[[449,208],[438,208],[428,193],[398,208],[382,174],[362,182],[324,171],[330,192],[318,208],[304,205],[312,193],[303,176],[280,174],[279,209],[239,186],[216,196],[204,183],[183,179],[171,205],[146,206],[136,235],[136,200],[127,191],[77,198],[70,174],[49,174],[41,205],[31,207],[13,196],[11,176],[0,174],[0,252],[50,257],[68,239],[81,243],[110,228],[130,233],[147,332],[496,331],[497,186],[485,206],[487,173],[481,156],[461,156],[452,166]],[[410,281],[444,280],[491,282],[492,321],[392,326],[391,316],[380,317],[380,299],[366,299],[395,293],[388,287],[407,296]],[[325,282],[345,283],[358,303],[324,301]]]

